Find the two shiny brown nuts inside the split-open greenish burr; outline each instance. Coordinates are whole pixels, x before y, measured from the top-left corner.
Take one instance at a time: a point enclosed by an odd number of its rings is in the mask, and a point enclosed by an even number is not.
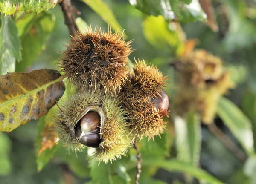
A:
[[[99,147],[100,121],[101,117],[97,112],[89,111],[76,124],[75,136],[79,138],[81,144],[87,147]]]

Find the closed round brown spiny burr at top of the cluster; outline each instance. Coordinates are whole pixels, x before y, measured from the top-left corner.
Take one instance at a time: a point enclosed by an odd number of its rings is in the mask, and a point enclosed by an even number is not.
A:
[[[131,41],[119,32],[102,32],[99,28],[78,32],[71,37],[60,60],[64,77],[79,88],[116,93],[128,77]]]

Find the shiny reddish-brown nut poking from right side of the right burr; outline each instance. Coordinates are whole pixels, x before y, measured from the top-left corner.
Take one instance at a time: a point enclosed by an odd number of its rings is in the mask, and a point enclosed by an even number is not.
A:
[[[163,89],[159,95],[157,95],[154,98],[151,98],[151,101],[154,101],[155,108],[160,111],[160,117],[166,115],[169,106],[169,98]]]

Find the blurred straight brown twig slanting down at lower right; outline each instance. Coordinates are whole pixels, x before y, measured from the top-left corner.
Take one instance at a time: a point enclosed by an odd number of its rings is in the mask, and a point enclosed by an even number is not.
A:
[[[230,150],[240,161],[244,162],[247,159],[247,156],[242,152],[239,147],[230,138],[227,137],[215,124],[208,125],[208,129],[215,135],[227,149]]]

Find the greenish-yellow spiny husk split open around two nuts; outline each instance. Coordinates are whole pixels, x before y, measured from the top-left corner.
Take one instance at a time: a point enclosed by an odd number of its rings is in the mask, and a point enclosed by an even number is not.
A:
[[[55,118],[56,131],[58,137],[68,149],[81,150],[84,145],[80,144],[76,138],[73,138],[72,132],[79,120],[79,115],[84,109],[98,106],[103,109],[104,122],[100,124],[101,143],[93,154],[98,161],[113,161],[125,155],[127,148],[131,145],[128,138],[128,126],[126,125],[126,112],[119,106],[119,102],[108,96],[101,95],[98,92],[84,91],[76,93],[60,107],[61,110]]]

